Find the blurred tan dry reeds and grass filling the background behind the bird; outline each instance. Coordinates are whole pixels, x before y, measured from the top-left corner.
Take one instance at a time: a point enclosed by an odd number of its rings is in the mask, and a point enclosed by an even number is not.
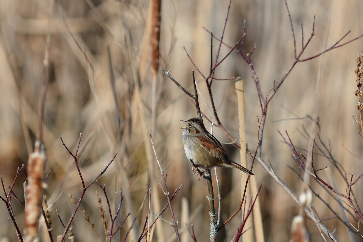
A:
[[[82,53],[67,32],[57,4],[54,4],[54,14],[50,24],[52,44],[50,47],[50,82],[48,86],[44,143],[48,163],[46,170],[51,170],[49,177],[49,202],[53,202],[61,191],[64,191],[53,208],[60,211],[62,218],[68,221],[74,204],[69,201],[68,193],[79,196],[81,184],[73,159],[64,149],[59,139],[62,136],[69,148],[75,148],[78,135],[83,133],[80,153],[80,163],[83,176],[87,181],[95,177],[118,151],[117,160],[100,179],[106,184],[109,197],[114,201],[122,190],[128,199],[122,207],[122,218],[130,211],[135,214],[146,191],[148,163],[155,162],[154,157],[148,157],[151,148],[150,140],[145,134],[151,132],[150,102],[151,102],[151,71],[145,38],[148,22],[148,1],[92,1],[90,7],[87,1],[62,0],[61,6],[71,31],[94,66],[94,80],[87,76],[87,65]],[[325,27],[330,23],[328,46],[332,45],[347,30],[352,32],[348,39],[363,33],[361,1],[288,1],[295,32],[297,46],[301,44],[299,24],[304,23],[305,38],[311,32],[313,16],[316,15],[316,36],[305,55],[318,53],[322,50]],[[34,143],[37,127],[37,108],[42,77],[42,60],[44,57],[45,39],[48,21],[48,1],[0,1],[0,173],[5,185],[11,184],[16,168],[26,165],[28,153]],[[187,49],[199,69],[205,73],[209,70],[210,35],[202,29],[205,26],[217,36],[220,35],[225,15],[227,1],[164,1],[162,5],[162,24],[160,40],[160,68],[170,70],[172,76],[188,90],[192,91],[191,70],[194,69],[188,60],[183,46]],[[225,42],[233,45],[242,33],[243,20],[247,20],[247,36],[245,52],[249,52],[255,43],[257,49],[252,58],[260,77],[264,93],[271,88],[273,81],[281,78],[293,61],[293,41],[289,19],[283,1],[233,1],[229,15]],[[356,110],[356,89],[354,69],[356,56],[363,48],[363,40],[333,50],[324,57],[322,70],[322,88],[319,94],[319,122],[321,136],[330,145],[331,152],[344,167],[345,171],[356,174],[363,172],[362,160],[351,155],[344,146],[362,157],[362,138],[357,128],[359,124],[351,116],[358,116]],[[117,115],[113,99],[112,87],[108,72],[106,46],[110,46],[111,59],[115,73],[119,108],[121,116],[122,136],[118,134]],[[217,46],[217,42],[214,42]],[[216,49],[216,48],[215,48]],[[6,58],[6,52],[10,59]],[[222,49],[227,53],[227,49]],[[213,56],[214,57],[214,56]],[[275,128],[286,129],[301,152],[307,147],[308,141],[301,135],[302,126],[310,128],[310,120],[304,119],[313,111],[315,82],[317,81],[319,60],[298,63],[278,94],[270,104],[268,123],[264,134],[263,152],[276,169],[278,175],[296,192],[301,191],[301,181],[287,167],[294,167],[299,172],[298,165],[291,158],[291,152],[286,144],[281,143],[281,137]],[[14,68],[14,71],[11,68]],[[135,85],[140,78],[140,98],[135,95]],[[236,54],[232,54],[216,71],[218,78],[241,76],[245,79],[246,90],[246,142],[250,149],[257,143],[257,115],[260,115],[256,88],[251,79],[249,68]],[[185,223],[193,224],[198,241],[209,238],[208,206],[205,196],[207,188],[205,181],[198,181],[191,175],[191,167],[185,159],[181,143],[180,119],[196,116],[195,108],[189,98],[178,87],[159,73],[158,82],[158,114],[156,119],[154,143],[164,170],[168,171],[168,188],[174,191],[183,184],[178,196],[173,201],[173,208],[179,226]],[[203,94],[207,94],[204,80],[198,74],[196,79]],[[91,92],[91,88],[94,92]],[[238,120],[236,93],[233,81],[215,81],[213,95],[221,122],[225,128],[238,139]],[[21,109],[20,109],[21,107]],[[140,111],[140,107],[142,110]],[[207,109],[201,104],[206,116]],[[141,116],[140,116],[141,115]],[[21,118],[26,127],[23,130]],[[301,117],[303,119],[299,119]],[[145,121],[143,125],[142,120]],[[206,123],[206,120],[204,120]],[[207,124],[207,123],[206,123]],[[28,132],[29,137],[24,134]],[[215,128],[215,136],[220,141],[228,141],[223,133]],[[342,141],[341,141],[342,140]],[[238,151],[232,145],[224,145],[228,153],[239,160]],[[249,160],[250,162],[250,160]],[[330,165],[326,159],[315,156],[316,166]],[[291,220],[298,212],[296,204],[287,196],[260,167],[255,164],[253,172],[256,179],[262,182],[260,194],[263,226],[266,241],[288,241]],[[156,173],[156,180],[160,180]],[[223,196],[222,219],[227,218],[236,210],[240,202],[240,172],[237,170],[220,170],[221,189]],[[339,189],[344,192],[345,184],[337,177]],[[21,177],[15,188],[15,193],[23,193]],[[127,182],[127,183],[125,183]],[[362,180],[356,187],[362,186]],[[315,181],[312,185],[317,188]],[[166,199],[160,188],[153,191],[153,196],[160,197],[161,204]],[[99,222],[97,199],[94,190],[90,188],[82,202],[95,224],[96,230],[102,234]],[[326,196],[323,194],[322,196]],[[356,192],[358,204],[363,204],[363,194]],[[189,209],[189,220],[181,220],[181,201],[186,198]],[[328,201],[331,199],[326,196]],[[313,205],[320,218],[330,218],[332,214],[319,202],[313,199]],[[23,228],[23,207],[13,201],[17,222]],[[62,227],[54,211],[51,212],[53,234],[62,234]],[[185,208],[184,208],[185,209]],[[339,208],[334,208],[339,211]],[[136,221],[138,231],[144,222],[146,210]],[[185,210],[184,210],[185,212]],[[155,211],[158,213],[158,211]],[[167,210],[164,218],[171,220]],[[16,240],[15,230],[3,203],[0,203],[0,236]],[[349,218],[356,226],[354,218]],[[239,218],[228,223],[225,230],[219,234],[220,241],[228,241],[233,237]],[[337,220],[325,221],[327,227],[335,231],[340,241],[346,241],[346,228]],[[128,222],[127,225],[130,225]],[[166,222],[159,221],[156,227],[162,229],[164,239],[171,238],[174,229]],[[128,226],[123,227],[124,235]],[[323,241],[314,223],[307,221],[311,233],[311,241]],[[44,227],[41,228],[44,231]],[[96,241],[94,232],[89,228],[81,213],[76,214],[73,222],[76,241]],[[155,232],[156,233],[156,232]],[[190,241],[187,231],[186,238]],[[183,232],[181,232],[183,234]],[[133,235],[130,235],[129,241]],[[135,231],[135,236],[138,232]],[[182,235],[183,236],[183,235]],[[224,239],[227,238],[227,239]],[[356,237],[357,241],[362,241]],[[171,238],[171,241],[174,239]]]

